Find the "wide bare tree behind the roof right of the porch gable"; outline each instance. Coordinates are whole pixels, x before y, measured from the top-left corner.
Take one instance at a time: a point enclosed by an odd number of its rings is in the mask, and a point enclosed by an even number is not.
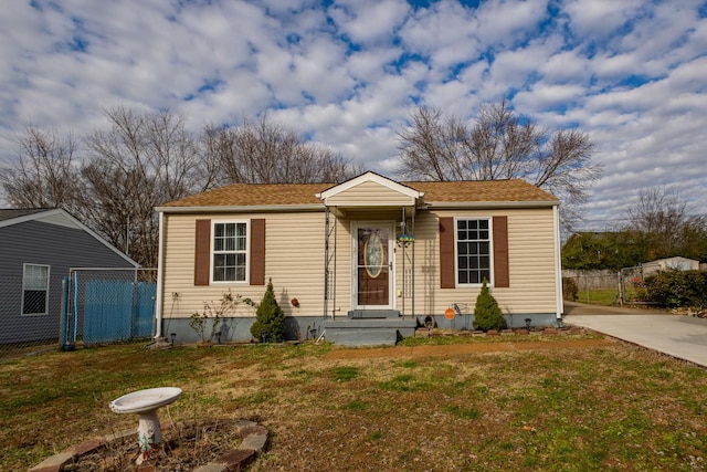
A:
[[[443,118],[421,107],[399,133],[399,174],[421,180],[496,180],[521,178],[563,200],[563,225],[577,221],[601,166],[591,162],[589,136],[577,129],[552,134],[521,119],[506,102],[483,107],[473,124]]]

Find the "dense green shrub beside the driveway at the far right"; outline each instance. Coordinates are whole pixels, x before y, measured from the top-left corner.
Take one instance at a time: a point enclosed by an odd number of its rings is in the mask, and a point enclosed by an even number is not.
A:
[[[650,302],[668,308],[707,306],[707,272],[666,271],[645,277]]]

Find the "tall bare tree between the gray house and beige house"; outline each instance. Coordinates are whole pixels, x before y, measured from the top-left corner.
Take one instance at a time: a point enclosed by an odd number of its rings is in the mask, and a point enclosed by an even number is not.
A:
[[[110,124],[86,137],[82,219],[145,266],[156,266],[154,208],[208,189],[217,166],[169,112],[105,111]]]

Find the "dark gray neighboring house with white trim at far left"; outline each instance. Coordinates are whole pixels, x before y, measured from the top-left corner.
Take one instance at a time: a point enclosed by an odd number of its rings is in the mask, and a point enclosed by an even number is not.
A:
[[[72,268],[138,264],[62,209],[0,209],[0,344],[59,338]]]

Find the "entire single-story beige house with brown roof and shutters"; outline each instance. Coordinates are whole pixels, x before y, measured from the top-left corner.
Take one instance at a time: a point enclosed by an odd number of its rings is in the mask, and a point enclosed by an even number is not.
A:
[[[231,290],[257,303],[271,279],[289,338],[316,329],[339,344],[390,344],[432,323],[471,328],[484,279],[509,325],[549,325],[563,310],[558,207],[524,180],[373,172],[168,202],[157,208],[157,335],[196,340],[188,322],[204,302]],[[254,316],[241,304],[221,339],[250,340]]]

